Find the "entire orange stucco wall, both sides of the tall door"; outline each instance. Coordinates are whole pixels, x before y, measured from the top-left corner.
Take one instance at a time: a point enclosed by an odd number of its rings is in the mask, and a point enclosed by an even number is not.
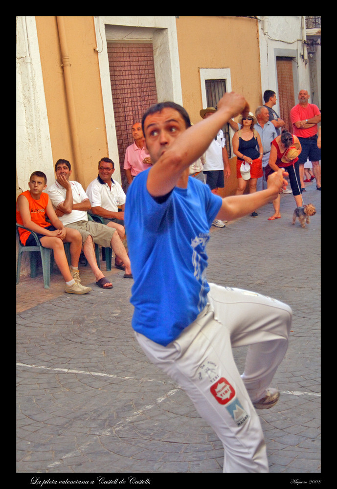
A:
[[[64,16],[63,21],[75,110],[75,143],[61,66],[57,18],[36,17],[52,156],[54,163],[58,158],[68,159],[73,169],[71,178],[86,188],[97,175],[98,160],[109,156],[98,54],[94,49],[94,19]],[[200,120],[202,108],[200,68],[229,68],[232,89],[243,93],[253,110],[262,103],[256,20],[182,16],[176,19],[176,26],[182,100],[192,122]],[[232,174],[234,160],[231,160]],[[235,183],[230,179],[227,189],[232,191]]]

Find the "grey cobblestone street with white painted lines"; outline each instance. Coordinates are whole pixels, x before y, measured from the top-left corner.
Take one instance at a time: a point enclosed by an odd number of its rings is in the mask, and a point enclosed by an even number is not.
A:
[[[273,382],[280,400],[258,413],[270,473],[319,479],[321,195],[315,182],[306,188],[305,203],[317,213],[304,229],[292,225],[292,194],[281,196],[281,219],[268,221],[267,204],[255,219],[213,227],[207,277],[292,307],[290,346]],[[42,276],[17,286],[17,473],[27,481],[56,473],[222,473],[221,442],[134,338],[133,281],[114,269],[107,273],[113,289],[102,290],[88,268],[80,268],[92,287],[87,295],[63,293],[57,272],[48,290]],[[245,349],[234,357],[241,373]]]

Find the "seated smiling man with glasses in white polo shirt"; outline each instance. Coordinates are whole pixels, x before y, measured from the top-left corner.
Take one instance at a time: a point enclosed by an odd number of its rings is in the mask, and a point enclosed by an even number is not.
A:
[[[110,158],[102,158],[98,163],[98,177],[90,182],[87,195],[91,204],[91,213],[103,219],[104,224],[117,229],[121,240],[125,237],[124,207],[126,195],[121,185],[112,179],[114,163]],[[118,206],[122,211],[118,211]],[[114,266],[125,269],[122,260],[116,256]]]

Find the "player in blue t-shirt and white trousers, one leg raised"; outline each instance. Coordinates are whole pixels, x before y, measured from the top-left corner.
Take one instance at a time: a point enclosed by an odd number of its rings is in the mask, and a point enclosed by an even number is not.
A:
[[[284,170],[268,189],[222,199],[189,177],[189,166],[228,121],[247,112],[242,95],[225,93],[218,110],[191,127],[173,102],[150,107],[142,118],[153,166],[129,187],[125,224],[134,286],[132,325],[145,354],[193,400],[225,449],[224,472],[268,472],[256,408],[270,408],[269,387],[288,347],[291,309],[254,292],[208,284],[209,229],[273,200],[286,184]],[[242,376],[232,346],[251,345]]]

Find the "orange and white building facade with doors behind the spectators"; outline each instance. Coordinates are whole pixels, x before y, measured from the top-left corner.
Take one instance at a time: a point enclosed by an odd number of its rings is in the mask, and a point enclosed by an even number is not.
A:
[[[319,105],[320,45],[314,64],[305,22],[300,16],[18,16],[17,195],[36,170],[50,185],[59,158],[71,162],[71,178],[86,189],[104,156],[127,191],[131,127],[157,101],[182,104],[193,123],[231,90],[255,111],[272,89],[274,109],[286,117],[298,90],[314,84],[312,101]],[[317,36],[316,30],[310,41],[317,44]],[[224,132],[232,170],[225,196],[236,190],[236,157],[233,132],[228,125]]]

